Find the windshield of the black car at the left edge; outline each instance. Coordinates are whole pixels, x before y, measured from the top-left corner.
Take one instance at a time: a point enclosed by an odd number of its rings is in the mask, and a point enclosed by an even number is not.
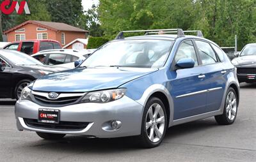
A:
[[[17,65],[33,65],[33,64],[39,64],[40,61],[37,61],[33,57],[23,54],[22,52],[12,51],[12,52],[3,52],[2,54],[6,59],[12,61],[13,64]]]

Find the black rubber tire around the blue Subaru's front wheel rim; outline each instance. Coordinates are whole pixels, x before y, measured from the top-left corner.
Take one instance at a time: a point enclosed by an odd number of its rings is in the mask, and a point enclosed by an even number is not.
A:
[[[146,127],[145,127],[145,124],[147,122],[146,117],[147,117],[148,109],[154,103],[158,103],[159,105],[161,105],[161,107],[163,108],[164,117],[165,117],[163,136],[161,137],[161,140],[159,140],[156,143],[150,141],[150,139],[147,136],[147,130],[146,130]],[[144,109],[144,112],[143,112],[143,118],[142,118],[142,122],[141,122],[141,138],[142,138],[141,140],[143,140],[143,142],[144,142],[144,147],[152,148],[152,147],[157,147],[158,145],[160,145],[161,142],[163,141],[163,138],[164,138],[164,135],[166,133],[167,128],[168,128],[168,119],[167,119],[167,114],[166,114],[166,108],[164,107],[163,102],[161,101],[161,99],[156,98],[156,97],[148,99],[148,102],[147,102],[147,104],[145,106],[145,109]]]

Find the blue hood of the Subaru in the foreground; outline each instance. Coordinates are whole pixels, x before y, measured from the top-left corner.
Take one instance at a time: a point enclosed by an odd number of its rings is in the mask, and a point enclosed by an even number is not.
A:
[[[154,71],[157,69],[76,68],[39,78],[32,89],[46,92],[89,92],[113,89]]]

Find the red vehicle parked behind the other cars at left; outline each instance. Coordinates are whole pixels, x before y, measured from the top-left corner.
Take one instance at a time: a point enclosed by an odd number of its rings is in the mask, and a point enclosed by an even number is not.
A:
[[[4,49],[17,50],[31,55],[41,50],[61,49],[61,45],[55,40],[22,40],[12,42],[6,45]]]

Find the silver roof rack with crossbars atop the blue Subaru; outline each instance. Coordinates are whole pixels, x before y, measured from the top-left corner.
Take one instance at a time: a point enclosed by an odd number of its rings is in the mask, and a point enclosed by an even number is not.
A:
[[[115,40],[124,39],[124,33],[138,33],[138,32],[145,32],[145,35],[148,34],[164,34],[164,33],[177,33],[177,38],[184,37],[184,33],[195,33],[196,36],[204,38],[202,31],[183,31],[182,29],[154,29],[154,30],[139,30],[139,31],[121,31],[116,36]]]

